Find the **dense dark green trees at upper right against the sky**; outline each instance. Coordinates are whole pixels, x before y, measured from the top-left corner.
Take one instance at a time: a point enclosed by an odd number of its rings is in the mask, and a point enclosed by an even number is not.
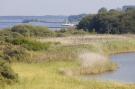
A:
[[[135,10],[126,12],[106,8],[101,8],[98,14],[84,17],[78,29],[92,32],[93,30],[101,34],[125,34],[135,33]]]

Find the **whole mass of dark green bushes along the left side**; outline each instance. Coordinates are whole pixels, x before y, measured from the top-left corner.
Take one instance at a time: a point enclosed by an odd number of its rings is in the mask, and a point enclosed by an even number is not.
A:
[[[37,31],[40,30],[40,31]],[[30,35],[28,35],[28,32]],[[51,34],[49,30],[42,27],[33,27],[29,25],[16,26],[11,29],[0,31],[0,82],[5,83],[17,82],[18,76],[10,67],[13,62],[31,62],[30,52],[28,50],[47,50],[51,43],[40,43],[30,40],[30,36],[46,36]],[[43,33],[44,32],[44,33]],[[32,35],[33,34],[33,35]]]

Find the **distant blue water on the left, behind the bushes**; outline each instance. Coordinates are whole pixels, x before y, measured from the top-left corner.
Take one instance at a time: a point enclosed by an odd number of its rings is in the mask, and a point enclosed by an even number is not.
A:
[[[22,23],[23,20],[31,20],[38,19],[47,22],[57,22],[57,23],[45,23],[45,22],[29,22],[27,24],[34,26],[45,26],[50,29],[59,30],[62,28],[62,24],[64,24],[67,19],[66,16],[0,16],[0,29],[13,27]],[[63,22],[63,23],[61,23]]]

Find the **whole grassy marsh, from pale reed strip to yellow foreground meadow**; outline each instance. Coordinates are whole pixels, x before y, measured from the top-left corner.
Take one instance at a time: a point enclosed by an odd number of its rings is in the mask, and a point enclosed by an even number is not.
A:
[[[36,40],[61,44],[45,52],[32,53],[34,60],[40,63],[13,64],[13,69],[20,76],[20,83],[6,86],[5,89],[135,89],[135,85],[86,81],[73,76],[74,73],[97,74],[116,69],[106,55],[135,51],[134,36],[90,35]],[[74,61],[78,59],[80,63]],[[44,60],[49,62],[41,63]]]

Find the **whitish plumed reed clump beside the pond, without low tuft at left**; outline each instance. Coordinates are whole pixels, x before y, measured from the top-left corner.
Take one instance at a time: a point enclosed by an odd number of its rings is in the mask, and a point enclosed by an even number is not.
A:
[[[106,56],[97,53],[89,52],[81,54],[80,60],[80,74],[100,74],[117,69],[117,65],[115,63],[111,62]]]

